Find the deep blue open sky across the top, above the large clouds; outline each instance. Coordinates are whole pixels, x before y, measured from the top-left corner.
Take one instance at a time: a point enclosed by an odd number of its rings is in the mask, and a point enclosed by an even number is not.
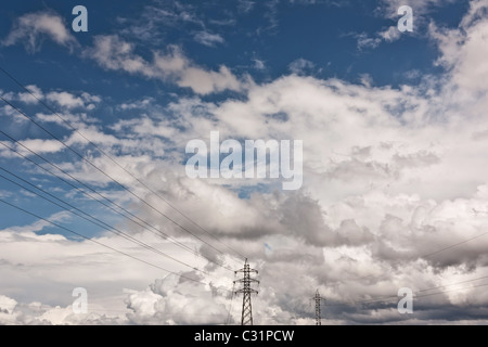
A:
[[[183,2],[181,7],[182,11],[194,18],[170,22],[163,15],[144,10],[147,3],[126,2],[113,7],[104,2],[87,2],[90,13],[89,33],[79,33],[75,37],[81,44],[88,46],[95,35],[117,34],[134,40],[143,56],[147,56],[153,49],[177,44],[201,65],[217,68],[226,64],[235,72],[252,74],[257,81],[287,74],[292,62],[305,59],[316,65],[309,73],[321,78],[337,77],[358,82],[361,74],[369,74],[378,85],[398,86],[406,81],[404,76],[401,76],[403,72],[420,69],[425,74],[434,70],[432,61],[437,52],[425,35],[425,24],[436,21],[455,27],[467,8],[466,1],[457,1],[432,10],[416,18],[419,26],[415,27],[415,35],[404,34],[400,40],[391,44],[380,44],[377,49],[358,50],[357,35],[364,33],[373,37],[376,33],[395,26],[400,16],[389,13],[389,18],[383,17],[376,1],[349,1],[339,5],[329,4],[326,1],[318,1],[313,5],[299,1],[277,1],[273,4],[265,1],[249,5],[247,12],[239,1],[230,1],[228,7],[222,7],[218,1],[206,1],[204,5],[190,1]],[[178,7],[171,1],[160,3],[167,9],[165,11],[178,11]],[[70,24],[74,17],[70,10],[75,4],[76,1],[9,4],[2,12],[1,30],[7,35],[11,29],[12,18],[22,13],[46,9],[56,11]],[[157,2],[154,4],[157,5]],[[145,36],[137,37],[133,31],[143,26],[147,17],[153,22],[151,30],[145,28],[149,30]],[[215,35],[221,41],[207,43],[211,47],[203,44],[195,38],[201,33]],[[36,55],[26,55],[22,47],[12,47],[4,50],[2,55],[5,63],[15,62],[25,66],[28,62],[28,65],[34,65],[31,70],[20,68],[16,76],[24,77],[21,75],[24,74],[26,78],[29,76],[33,80],[40,79],[47,87],[76,89],[84,83],[90,90],[106,94],[108,90],[101,81],[111,80],[110,95],[115,100],[134,94],[160,95],[174,91],[171,86],[154,86],[143,79],[130,80],[132,87],[134,82],[138,87],[131,89],[126,85],[128,80],[124,76],[105,75],[90,62],[79,59],[78,54],[67,54],[55,43],[47,41],[43,48]],[[255,60],[264,62],[264,70],[253,69],[256,66]],[[55,64],[49,64],[50,62]],[[42,69],[38,66],[42,66]],[[63,78],[65,76],[70,78]]]

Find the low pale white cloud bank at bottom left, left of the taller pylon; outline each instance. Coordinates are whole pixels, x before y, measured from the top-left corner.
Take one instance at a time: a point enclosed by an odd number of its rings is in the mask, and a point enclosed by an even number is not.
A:
[[[54,215],[50,217],[50,220],[62,223],[65,215]],[[130,306],[132,311],[147,314],[147,312],[141,312],[142,308],[136,305],[134,293],[137,292],[134,291],[142,291],[147,284],[147,278],[159,277],[160,269],[147,267],[145,264],[126,258],[89,241],[70,241],[57,234],[37,234],[48,226],[50,224],[47,222],[36,222],[23,228],[0,231],[0,275],[9,278],[9,281],[0,283],[0,293],[2,293],[0,324],[124,323],[128,321],[125,313],[130,312],[124,303],[126,298],[132,299],[133,304]],[[191,253],[182,252],[181,248],[162,237],[137,232],[133,232],[132,236],[155,248],[164,249],[165,253],[188,264],[198,266]],[[144,248],[114,235],[100,236],[95,240],[175,272],[191,271],[181,265],[171,264],[167,258],[155,253],[145,254]],[[184,239],[181,239],[181,242],[189,247],[194,246],[192,242]],[[187,275],[190,274],[187,273]],[[224,274],[221,282],[224,283],[230,278]],[[167,281],[175,283],[172,278]],[[103,288],[99,287],[102,283]],[[220,291],[221,284],[214,283],[214,290]],[[183,280],[181,285],[183,293],[200,287],[184,284]],[[74,314],[70,307],[75,300],[72,292],[79,286],[88,291],[88,314]],[[123,293],[124,287],[131,288],[129,296]],[[200,288],[202,298],[208,296],[205,301],[211,307],[213,294],[203,285]],[[18,296],[22,297],[22,303],[13,299]],[[55,303],[55,305],[48,303]],[[166,309],[171,308],[168,305]],[[188,309],[191,307],[189,306]],[[221,311],[220,306],[216,306],[216,309],[217,312]]]

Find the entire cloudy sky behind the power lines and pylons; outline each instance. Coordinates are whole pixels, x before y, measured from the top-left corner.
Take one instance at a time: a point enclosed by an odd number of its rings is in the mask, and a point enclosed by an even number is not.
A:
[[[88,33],[72,30],[72,10],[78,4],[88,9]],[[402,4],[413,10],[412,33],[397,29]],[[330,309],[325,319],[331,324],[487,322],[478,309],[488,298],[475,288],[425,300],[411,320],[381,305],[372,317],[350,304],[395,295],[402,286],[419,291],[485,274],[487,241],[463,241],[488,227],[486,0],[44,0],[9,2],[2,9],[0,67],[133,177],[0,73],[2,98],[141,200],[7,104],[0,105],[0,129],[72,175],[65,177],[70,183],[87,184],[190,248],[241,266],[231,254],[215,255],[149,208],[144,202],[200,235],[195,224],[134,177],[246,254],[264,275],[257,303],[261,323],[307,323],[311,316],[305,309],[305,317],[296,316],[287,300],[293,296],[294,307],[303,307],[300,298],[317,288],[332,303],[349,303],[347,309]],[[185,144],[207,141],[210,131],[241,142],[303,140],[303,187],[286,192],[268,179],[189,179]],[[2,134],[0,141],[23,151]],[[179,259],[208,268],[220,277],[216,285],[222,291],[232,281],[3,146],[0,167]],[[0,197],[175,272],[188,271],[3,178]],[[127,259],[121,269],[113,254],[11,207],[0,207],[0,278],[11,278],[0,284],[0,309],[2,303],[12,307],[10,316],[0,313],[0,322],[84,323],[69,314],[72,297],[63,296],[75,286],[97,293],[94,313],[124,312],[113,317],[116,323],[160,323],[162,317],[165,323],[195,323],[187,305],[195,293],[202,310],[215,312],[196,323],[227,317],[224,295],[162,279]],[[457,243],[461,246],[449,253],[426,256]],[[73,271],[67,274],[60,262]],[[24,270],[17,271],[18,265]],[[296,274],[293,283],[287,282],[290,271]],[[106,272],[113,274],[102,279]],[[375,281],[363,280],[371,277]],[[40,284],[44,290],[29,291]],[[181,296],[168,295],[174,290]],[[470,295],[476,305],[463,301]],[[144,300],[154,300],[157,309],[140,304]],[[46,303],[42,317],[31,312],[31,320],[23,321],[17,313],[29,311],[31,301]],[[170,307],[182,313],[175,316]]]

